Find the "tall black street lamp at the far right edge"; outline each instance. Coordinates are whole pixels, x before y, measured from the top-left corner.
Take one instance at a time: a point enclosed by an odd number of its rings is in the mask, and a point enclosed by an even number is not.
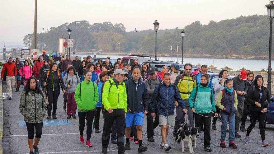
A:
[[[272,20],[274,18],[274,5],[273,1],[270,1],[267,7],[267,18],[269,18],[270,21],[270,29],[269,29],[269,55],[268,55],[268,68],[267,68],[267,89],[271,93],[271,74],[272,74],[272,68],[271,68],[271,49],[272,49]]]

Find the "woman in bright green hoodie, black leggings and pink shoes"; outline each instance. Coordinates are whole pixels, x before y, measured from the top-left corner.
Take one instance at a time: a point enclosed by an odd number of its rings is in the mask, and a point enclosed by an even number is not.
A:
[[[85,80],[77,85],[74,98],[78,105],[80,142],[84,143],[83,132],[85,128],[85,118],[87,118],[86,146],[92,147],[90,142],[92,120],[95,114],[95,106],[99,100],[99,93],[96,83],[91,81],[92,76],[90,70],[86,70],[83,76]]]

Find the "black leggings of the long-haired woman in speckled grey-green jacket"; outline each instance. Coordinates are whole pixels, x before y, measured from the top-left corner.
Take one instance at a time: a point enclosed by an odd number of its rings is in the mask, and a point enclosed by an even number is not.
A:
[[[38,124],[32,124],[26,122],[27,130],[28,130],[28,139],[33,139],[34,137],[34,128],[35,128],[35,138],[41,138],[42,136],[42,129],[43,129],[43,122]]]

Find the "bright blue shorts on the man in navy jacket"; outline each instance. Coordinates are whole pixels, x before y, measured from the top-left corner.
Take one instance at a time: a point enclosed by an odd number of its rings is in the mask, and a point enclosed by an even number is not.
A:
[[[144,113],[143,112],[138,112],[138,113],[126,113],[125,117],[125,127],[131,127],[133,124],[134,120],[134,125],[138,126],[143,126],[144,124]]]

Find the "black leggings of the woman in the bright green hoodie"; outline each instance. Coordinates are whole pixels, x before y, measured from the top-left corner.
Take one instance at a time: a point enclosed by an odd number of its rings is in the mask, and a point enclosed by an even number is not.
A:
[[[78,112],[80,135],[83,135],[85,124],[86,124],[86,117],[87,117],[87,140],[90,140],[91,131],[92,131],[92,120],[93,120],[94,114],[95,114],[95,111]]]

